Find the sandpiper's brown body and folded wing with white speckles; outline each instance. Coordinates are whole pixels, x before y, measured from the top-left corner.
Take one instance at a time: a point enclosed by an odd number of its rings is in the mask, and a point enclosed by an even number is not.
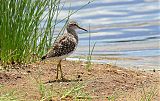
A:
[[[42,57],[43,59],[46,58],[65,58],[66,56],[73,53],[76,49],[78,44],[78,37],[76,38],[72,34],[63,34],[59,37],[52,48],[48,51],[48,53]]]

